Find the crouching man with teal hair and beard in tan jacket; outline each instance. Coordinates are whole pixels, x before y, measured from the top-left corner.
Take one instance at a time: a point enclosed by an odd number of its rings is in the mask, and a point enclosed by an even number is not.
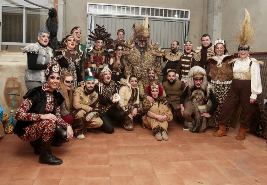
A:
[[[94,91],[95,78],[86,76],[84,85],[78,87],[73,95],[73,130],[78,139],[84,139],[84,128],[98,128],[103,125],[99,117],[98,94]]]

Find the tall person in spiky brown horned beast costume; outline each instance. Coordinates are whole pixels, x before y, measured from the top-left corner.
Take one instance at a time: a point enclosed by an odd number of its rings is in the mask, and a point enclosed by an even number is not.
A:
[[[160,76],[161,67],[163,65],[164,51],[159,47],[159,43],[148,43],[150,38],[150,25],[148,24],[148,16],[140,26],[135,23],[132,25],[134,34],[127,42],[124,42],[123,55],[126,59],[125,76],[135,75],[138,80],[147,77],[147,69],[154,66],[156,76]]]

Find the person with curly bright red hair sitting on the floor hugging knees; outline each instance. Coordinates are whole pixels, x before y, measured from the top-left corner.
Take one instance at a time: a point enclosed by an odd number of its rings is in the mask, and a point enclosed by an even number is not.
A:
[[[159,84],[152,83],[146,87],[148,95],[153,97],[155,103],[144,99],[143,127],[152,129],[156,140],[169,140],[167,135],[168,122],[172,121],[172,107],[166,98],[162,98],[163,88]],[[145,128],[144,127],[144,128]]]

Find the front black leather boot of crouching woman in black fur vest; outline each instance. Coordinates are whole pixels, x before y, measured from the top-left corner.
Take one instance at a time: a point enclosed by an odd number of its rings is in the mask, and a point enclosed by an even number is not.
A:
[[[48,139],[48,141],[46,142],[42,140],[39,163],[48,164],[48,165],[60,165],[62,164],[63,161],[55,157],[54,155],[52,155],[51,150],[50,150],[51,142],[52,142],[52,137]]]

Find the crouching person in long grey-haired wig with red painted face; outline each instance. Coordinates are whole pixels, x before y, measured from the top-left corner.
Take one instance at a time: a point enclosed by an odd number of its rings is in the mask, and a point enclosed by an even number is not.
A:
[[[188,73],[188,81],[188,86],[180,98],[181,114],[185,119],[185,126],[191,132],[204,133],[207,122],[211,121],[208,118],[213,118],[212,115],[218,102],[213,86],[207,81],[207,75],[203,68],[200,66],[191,68]]]

